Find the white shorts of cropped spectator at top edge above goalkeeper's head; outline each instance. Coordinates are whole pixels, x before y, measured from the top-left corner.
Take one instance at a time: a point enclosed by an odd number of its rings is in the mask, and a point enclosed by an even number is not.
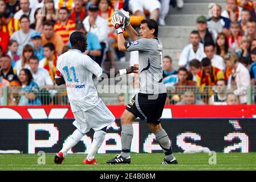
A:
[[[133,14],[135,14],[136,11],[144,12],[144,9],[152,13],[152,11],[156,9],[161,9],[161,3],[158,0],[130,0],[129,9]]]

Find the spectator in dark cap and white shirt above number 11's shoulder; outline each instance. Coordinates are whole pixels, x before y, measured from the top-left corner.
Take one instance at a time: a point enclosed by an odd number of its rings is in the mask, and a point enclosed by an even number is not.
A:
[[[98,7],[92,3],[88,8],[88,16],[83,20],[84,27],[87,32],[92,32],[97,35],[101,45],[101,56],[97,57],[96,62],[102,66],[104,55],[108,46],[108,20],[101,18],[98,15]]]

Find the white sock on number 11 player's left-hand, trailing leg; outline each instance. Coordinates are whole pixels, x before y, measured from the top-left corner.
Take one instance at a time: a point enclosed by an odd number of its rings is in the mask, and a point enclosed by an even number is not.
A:
[[[67,152],[73,148],[83,138],[83,136],[84,135],[78,129],[74,131],[74,133],[70,136],[60,151],[63,153],[63,157],[67,155]]]

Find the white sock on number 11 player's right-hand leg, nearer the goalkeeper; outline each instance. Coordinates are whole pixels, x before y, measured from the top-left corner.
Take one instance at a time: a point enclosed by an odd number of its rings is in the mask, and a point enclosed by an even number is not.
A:
[[[105,131],[96,131],[94,133],[94,140],[92,141],[92,146],[90,148],[90,151],[87,155],[87,159],[89,161],[92,161],[97,153],[97,150],[99,150],[101,144],[103,143],[104,139],[105,139]]]

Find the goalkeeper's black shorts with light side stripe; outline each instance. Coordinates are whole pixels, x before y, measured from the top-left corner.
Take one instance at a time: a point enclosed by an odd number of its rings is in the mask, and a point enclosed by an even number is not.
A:
[[[160,94],[136,94],[126,107],[135,117],[142,121],[147,118],[148,123],[158,125],[162,116],[162,110],[166,101],[166,93]]]

